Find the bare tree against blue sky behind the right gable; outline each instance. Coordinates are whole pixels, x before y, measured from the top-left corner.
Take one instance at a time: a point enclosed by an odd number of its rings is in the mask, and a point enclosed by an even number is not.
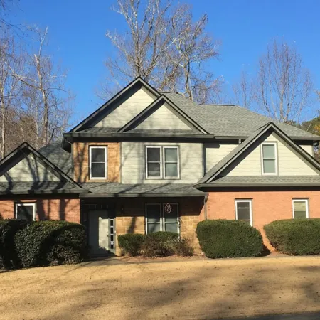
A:
[[[276,40],[260,58],[255,102],[260,112],[281,122],[301,122],[311,107],[312,81],[294,46]]]

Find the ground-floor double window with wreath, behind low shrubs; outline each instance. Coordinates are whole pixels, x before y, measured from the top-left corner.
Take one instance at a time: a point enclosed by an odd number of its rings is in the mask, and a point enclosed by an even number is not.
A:
[[[179,232],[178,203],[147,203],[146,233]]]

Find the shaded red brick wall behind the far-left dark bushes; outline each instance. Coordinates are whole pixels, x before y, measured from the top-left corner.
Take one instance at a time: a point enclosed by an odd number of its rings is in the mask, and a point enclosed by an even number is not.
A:
[[[66,220],[80,223],[80,199],[0,200],[0,218],[15,218],[15,203],[36,203],[36,220]]]

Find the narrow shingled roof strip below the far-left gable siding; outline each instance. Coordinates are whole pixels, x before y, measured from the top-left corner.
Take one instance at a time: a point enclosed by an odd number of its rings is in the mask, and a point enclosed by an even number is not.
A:
[[[81,193],[82,190],[68,181],[1,182],[0,194],[28,193]]]

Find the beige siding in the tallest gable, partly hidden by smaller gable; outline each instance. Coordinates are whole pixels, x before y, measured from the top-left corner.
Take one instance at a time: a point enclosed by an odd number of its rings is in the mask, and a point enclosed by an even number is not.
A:
[[[95,124],[95,127],[121,128],[148,107],[154,100],[154,95],[142,87],[124,101],[122,105],[119,105],[119,107],[108,114],[107,117]]]

